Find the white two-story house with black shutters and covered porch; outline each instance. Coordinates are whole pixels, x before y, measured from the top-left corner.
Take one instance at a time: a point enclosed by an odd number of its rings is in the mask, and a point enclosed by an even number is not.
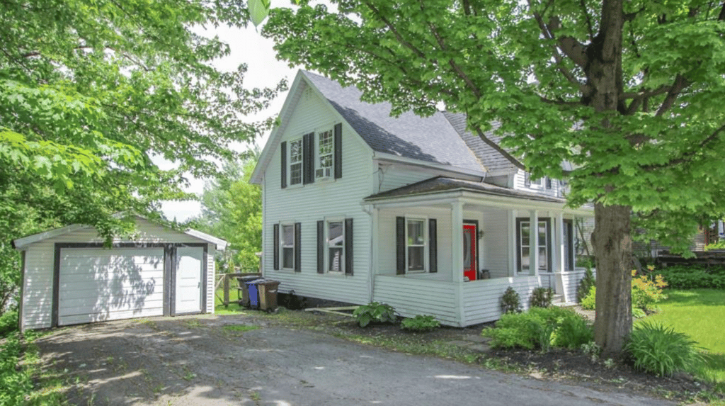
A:
[[[508,286],[526,305],[538,286],[573,301],[572,223],[592,208],[565,207],[562,183],[530,179],[463,115],[389,112],[297,74],[251,180],[264,275],[281,292],[386,302],[450,326],[497,320]]]

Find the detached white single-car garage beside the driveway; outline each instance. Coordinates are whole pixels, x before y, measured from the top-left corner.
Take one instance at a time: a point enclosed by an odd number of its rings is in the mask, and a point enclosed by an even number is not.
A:
[[[226,241],[136,224],[133,241],[111,248],[84,225],[13,241],[22,251],[21,330],[214,312],[214,254]]]

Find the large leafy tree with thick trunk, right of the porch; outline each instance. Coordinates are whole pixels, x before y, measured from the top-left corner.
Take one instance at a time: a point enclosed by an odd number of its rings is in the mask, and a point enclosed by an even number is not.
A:
[[[442,102],[484,141],[500,122],[515,165],[568,179],[573,206],[595,203],[597,342],[617,352],[631,329],[634,226],[682,250],[698,222],[724,215],[722,4],[332,3],[273,9],[262,33],[280,57],[389,101],[394,114]]]

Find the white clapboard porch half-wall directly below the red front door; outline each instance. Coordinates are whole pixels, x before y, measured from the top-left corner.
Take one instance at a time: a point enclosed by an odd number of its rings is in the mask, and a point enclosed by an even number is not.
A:
[[[531,291],[540,286],[537,276],[483,279],[463,283],[463,320],[466,326],[487,323],[501,318],[501,297],[511,286],[521,297],[521,305],[529,308]]]

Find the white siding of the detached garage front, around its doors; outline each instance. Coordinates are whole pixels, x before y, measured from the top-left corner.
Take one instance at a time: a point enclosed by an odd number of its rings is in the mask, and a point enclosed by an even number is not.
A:
[[[133,241],[114,239],[114,243],[148,242],[148,243],[199,243],[203,242],[149,220],[138,218],[138,234]],[[25,281],[22,286],[22,328],[47,328],[51,326],[53,307],[53,268],[55,243],[88,243],[104,242],[94,228],[82,228],[78,231],[57,236],[51,239],[30,244],[25,252]],[[213,311],[214,299],[214,245],[209,246],[210,272],[207,275],[207,310]],[[210,293],[209,293],[210,292]]]

